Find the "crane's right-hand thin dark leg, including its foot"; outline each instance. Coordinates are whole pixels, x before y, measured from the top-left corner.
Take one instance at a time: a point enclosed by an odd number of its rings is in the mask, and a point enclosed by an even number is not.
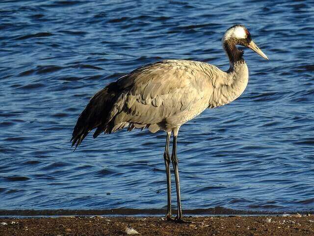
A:
[[[173,166],[173,169],[175,172],[176,190],[177,190],[177,204],[178,204],[178,214],[175,218],[175,221],[178,223],[188,223],[188,222],[183,221],[183,219],[182,219],[180,181],[179,181],[179,169],[178,169],[179,160],[177,158],[177,136],[178,136],[179,128],[180,127],[173,130],[173,146],[172,146],[172,155],[171,155],[172,166]]]

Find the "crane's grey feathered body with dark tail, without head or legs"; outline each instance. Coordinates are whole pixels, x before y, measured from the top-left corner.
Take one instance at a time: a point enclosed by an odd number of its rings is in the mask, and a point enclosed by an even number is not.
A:
[[[74,141],[79,145],[95,128],[94,138],[126,126],[129,130],[148,128],[153,133],[159,129],[169,132],[206,108],[233,101],[244,91],[247,82],[245,63],[228,72],[189,60],[163,60],[143,66],[91,98],[78,118]]]

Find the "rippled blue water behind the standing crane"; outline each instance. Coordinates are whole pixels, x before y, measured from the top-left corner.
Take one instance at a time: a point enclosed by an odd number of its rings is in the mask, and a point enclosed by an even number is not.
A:
[[[270,60],[245,50],[245,92],[182,126],[183,211],[314,210],[313,22],[310,0],[2,0],[0,209],[166,207],[165,133],[89,135],[72,152],[73,127],[140,65],[227,70],[221,37],[240,23]]]

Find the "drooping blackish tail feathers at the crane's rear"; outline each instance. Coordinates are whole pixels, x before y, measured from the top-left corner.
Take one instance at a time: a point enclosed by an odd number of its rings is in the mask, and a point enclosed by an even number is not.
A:
[[[89,101],[85,109],[78,117],[78,121],[72,133],[72,147],[78,148],[87,134],[97,128],[94,133],[96,138],[100,133],[106,132],[110,120],[108,115],[119,95],[119,88],[116,82],[109,84],[104,89],[98,91]]]

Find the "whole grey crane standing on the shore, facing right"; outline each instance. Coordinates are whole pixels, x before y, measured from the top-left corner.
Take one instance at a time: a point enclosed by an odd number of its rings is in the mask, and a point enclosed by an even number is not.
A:
[[[243,50],[236,45],[249,48],[268,60],[253,42],[248,29],[243,25],[234,25],[222,37],[222,46],[230,63],[227,71],[209,63],[183,59],[165,59],[134,69],[91,97],[78,116],[71,139],[72,147],[78,148],[86,135],[94,129],[94,138],[101,133],[111,134],[126,127],[129,131],[135,128],[149,129],[152,133],[165,131],[165,220],[186,222],[182,214],[177,157],[179,129],[204,110],[226,105],[242,94],[248,84],[249,72]],[[173,142],[170,156],[171,135]],[[177,193],[175,218],[172,218],[171,213],[170,160]]]

